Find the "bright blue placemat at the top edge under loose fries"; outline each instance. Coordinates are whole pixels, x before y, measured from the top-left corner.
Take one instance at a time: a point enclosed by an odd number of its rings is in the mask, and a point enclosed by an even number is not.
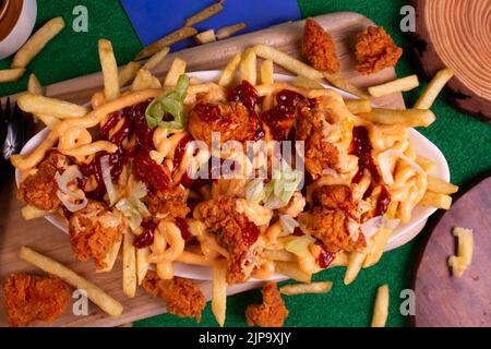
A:
[[[147,46],[180,28],[187,17],[213,4],[213,0],[121,0],[140,40]],[[286,21],[300,19],[297,0],[227,0],[224,11],[194,25],[199,32],[215,31],[244,22],[247,27],[238,34],[254,32]],[[191,45],[185,40],[172,46],[180,49]]]

